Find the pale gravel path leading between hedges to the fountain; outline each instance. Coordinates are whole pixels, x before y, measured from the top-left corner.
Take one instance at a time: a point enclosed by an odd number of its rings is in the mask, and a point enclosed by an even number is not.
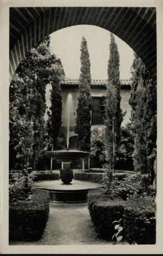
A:
[[[50,203],[47,226],[40,241],[11,241],[10,245],[114,244],[97,237],[87,203]]]

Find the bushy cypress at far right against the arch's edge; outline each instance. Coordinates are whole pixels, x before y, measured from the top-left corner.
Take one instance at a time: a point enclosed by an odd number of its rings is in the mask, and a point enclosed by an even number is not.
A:
[[[153,180],[156,158],[156,87],[141,58],[134,53],[129,103],[134,133],[134,169]]]

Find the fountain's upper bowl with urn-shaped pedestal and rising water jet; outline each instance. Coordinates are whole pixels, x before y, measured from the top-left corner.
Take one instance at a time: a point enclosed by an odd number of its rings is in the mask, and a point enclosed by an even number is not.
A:
[[[48,151],[46,156],[52,159],[56,159],[58,162],[64,163],[64,174],[62,177],[62,182],[64,184],[69,184],[72,181],[72,172],[70,170],[70,164],[80,158],[88,158],[89,152],[69,150],[69,131],[70,131],[70,115],[72,113],[72,95],[69,93],[67,98],[66,109],[68,111],[67,115],[67,150],[61,151]]]

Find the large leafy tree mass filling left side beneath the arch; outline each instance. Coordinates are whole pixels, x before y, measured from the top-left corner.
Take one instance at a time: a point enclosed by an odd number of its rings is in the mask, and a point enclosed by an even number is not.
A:
[[[26,54],[10,85],[10,151],[34,169],[43,150],[45,87],[62,74],[61,61],[50,53],[49,44],[47,36]]]

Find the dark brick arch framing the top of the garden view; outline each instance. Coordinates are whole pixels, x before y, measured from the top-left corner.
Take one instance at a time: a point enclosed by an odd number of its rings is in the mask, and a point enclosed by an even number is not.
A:
[[[10,80],[40,39],[74,25],[98,26],[120,37],[142,58],[156,82],[156,9],[139,7],[10,8]]]

